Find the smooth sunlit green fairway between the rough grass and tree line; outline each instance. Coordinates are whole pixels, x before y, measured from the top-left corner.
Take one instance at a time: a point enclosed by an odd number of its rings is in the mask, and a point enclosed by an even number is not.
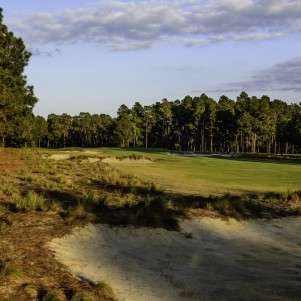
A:
[[[139,164],[139,160],[116,160],[110,164],[176,193],[205,196],[225,192],[286,192],[301,189],[299,162],[243,157],[182,157],[160,150],[102,148],[100,151],[106,156],[139,154],[150,158],[150,164]]]

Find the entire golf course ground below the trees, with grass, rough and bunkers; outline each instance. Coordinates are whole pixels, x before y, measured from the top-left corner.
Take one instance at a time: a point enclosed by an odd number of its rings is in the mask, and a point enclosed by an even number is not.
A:
[[[300,295],[298,157],[143,148],[0,155],[1,300]]]

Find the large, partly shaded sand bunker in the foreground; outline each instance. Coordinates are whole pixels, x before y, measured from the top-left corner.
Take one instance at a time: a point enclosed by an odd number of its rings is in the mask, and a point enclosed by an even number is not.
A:
[[[301,300],[301,218],[181,227],[90,224],[49,247],[76,276],[109,282],[118,300]]]

